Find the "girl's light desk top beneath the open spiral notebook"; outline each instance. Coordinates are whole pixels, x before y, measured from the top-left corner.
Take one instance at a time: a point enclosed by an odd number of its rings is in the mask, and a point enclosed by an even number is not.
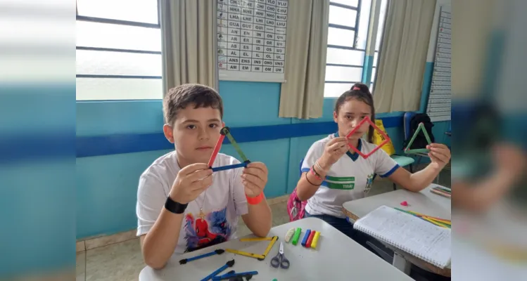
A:
[[[418,213],[426,214],[428,216],[436,216],[438,218],[450,220],[450,199],[430,192],[430,190],[435,186],[442,185],[433,183],[428,185],[428,187],[424,190],[421,190],[421,192],[410,192],[408,190],[400,189],[374,195],[372,197],[364,197],[360,200],[345,202],[343,204],[343,211],[352,223],[357,221],[359,218],[362,218],[370,211],[374,211],[374,209],[381,207],[382,205],[408,209],[410,211],[417,211]],[[408,203],[408,207],[403,207],[400,204],[403,201]],[[447,277],[450,277],[451,275],[450,267],[438,268],[437,266],[433,266],[426,261],[422,261],[416,256],[412,256],[411,254],[405,253],[400,249],[396,249],[391,245],[386,243],[383,244],[394,251],[393,266],[406,274],[409,274],[411,263],[413,263],[424,270],[428,270],[439,275]]]

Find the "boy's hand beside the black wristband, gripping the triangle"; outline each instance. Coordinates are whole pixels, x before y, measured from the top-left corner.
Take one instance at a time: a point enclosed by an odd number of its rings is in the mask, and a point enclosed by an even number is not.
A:
[[[212,169],[209,169],[205,163],[190,164],[177,173],[169,196],[179,204],[187,204],[195,200],[210,185],[212,185]]]

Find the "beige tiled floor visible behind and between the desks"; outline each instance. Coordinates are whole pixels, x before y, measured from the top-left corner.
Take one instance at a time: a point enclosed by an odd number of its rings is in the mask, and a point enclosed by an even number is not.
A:
[[[439,184],[450,186],[450,171],[445,170],[440,175]],[[369,196],[393,190],[391,182],[376,179]],[[273,204],[273,226],[288,223],[289,218],[286,203]],[[241,221],[241,220],[240,220]],[[239,223],[239,235],[247,235],[248,228]],[[110,244],[104,247],[88,249],[77,253],[77,281],[138,280],[139,272],[144,268],[139,240]]]

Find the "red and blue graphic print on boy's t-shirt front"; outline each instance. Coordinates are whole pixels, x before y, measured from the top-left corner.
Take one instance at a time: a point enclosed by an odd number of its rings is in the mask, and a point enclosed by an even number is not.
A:
[[[185,216],[185,252],[195,251],[227,241],[231,235],[231,226],[227,222],[227,207],[194,217]]]

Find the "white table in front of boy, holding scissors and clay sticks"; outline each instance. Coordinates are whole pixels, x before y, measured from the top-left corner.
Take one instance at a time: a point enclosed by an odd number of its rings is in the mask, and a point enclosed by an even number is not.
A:
[[[302,228],[302,235],[296,246],[284,241],[287,230],[290,228]],[[316,249],[307,249],[300,245],[305,235],[305,230],[320,231],[321,236]],[[238,239],[217,244],[186,253],[174,255],[161,270],[154,270],[146,266],[139,274],[139,281],[158,280],[201,280],[208,276],[227,261],[234,259],[234,266],[222,271],[220,275],[229,270],[236,272],[258,271],[251,280],[278,281],[286,280],[412,280],[397,268],[386,263],[372,252],[368,251],[357,242],[330,226],[319,218],[303,218],[298,221],[275,226],[269,235],[278,236],[279,239],[265,257],[265,260],[250,258],[224,252],[220,255],[208,256],[203,259],[190,261],[184,265],[179,260],[188,259],[199,254],[205,254],[215,249],[237,249],[257,254],[262,254],[269,241],[240,242]],[[246,237],[253,237],[248,235]],[[277,255],[280,242],[284,242],[284,255],[291,263],[288,269],[273,268],[270,266],[271,259]]]

